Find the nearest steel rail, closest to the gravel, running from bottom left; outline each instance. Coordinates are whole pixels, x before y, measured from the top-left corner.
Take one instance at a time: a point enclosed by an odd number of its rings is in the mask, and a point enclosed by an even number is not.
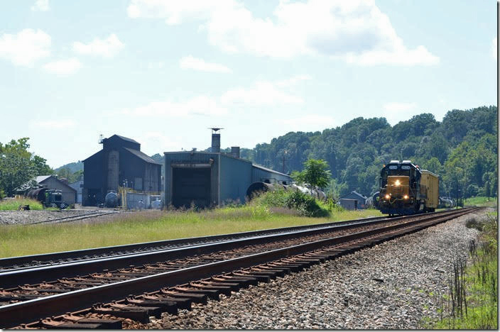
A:
[[[212,262],[206,265],[198,265],[188,267],[182,270],[172,272],[163,272],[158,275],[146,277],[138,277],[134,280],[126,280],[116,282],[114,284],[105,284],[102,286],[80,289],[64,294],[57,294],[49,297],[23,301],[16,304],[9,304],[0,307],[0,328],[11,328],[18,326],[21,323],[37,321],[47,316],[61,314],[67,311],[76,311],[88,308],[97,302],[116,301],[127,297],[129,294],[141,294],[143,292],[152,292],[163,287],[175,286],[176,284],[185,284],[192,280],[211,277],[219,273],[224,273],[232,270],[238,270],[244,267],[259,265],[263,262],[271,262],[280,258],[287,258],[293,255],[325,248],[332,245],[339,245],[352,240],[362,238],[370,238],[379,234],[390,234],[390,238],[401,236],[401,234],[393,233],[397,230],[407,229],[410,232],[418,231],[421,228],[433,226],[437,223],[448,221],[457,216],[469,214],[474,209],[462,209],[456,214],[447,214],[445,216],[431,216],[421,218],[421,220],[408,221],[406,223],[398,223],[392,226],[383,226],[381,228],[351,233],[346,236],[338,236],[317,240],[310,243],[303,243],[287,248],[270,250],[263,253],[256,253],[240,258],[230,260],[222,260]]]

